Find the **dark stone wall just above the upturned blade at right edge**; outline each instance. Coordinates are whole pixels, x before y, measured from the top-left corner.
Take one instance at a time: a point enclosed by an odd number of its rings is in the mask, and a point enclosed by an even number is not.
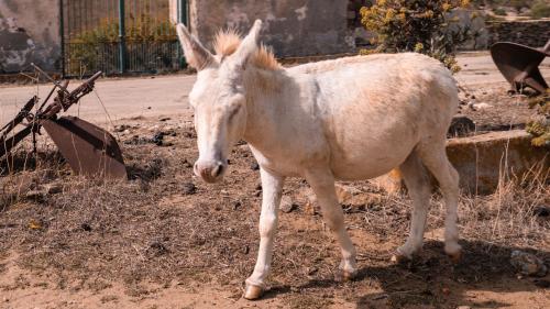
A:
[[[490,46],[506,41],[541,47],[550,40],[550,20],[491,22],[487,27],[491,33]]]

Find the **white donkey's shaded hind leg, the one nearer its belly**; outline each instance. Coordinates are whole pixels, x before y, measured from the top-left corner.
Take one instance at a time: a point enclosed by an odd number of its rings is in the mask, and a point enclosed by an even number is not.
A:
[[[402,172],[409,196],[413,199],[413,216],[409,236],[392,257],[394,262],[409,260],[422,247],[430,197],[430,178],[416,151],[410,153],[407,159],[399,166],[399,170]]]

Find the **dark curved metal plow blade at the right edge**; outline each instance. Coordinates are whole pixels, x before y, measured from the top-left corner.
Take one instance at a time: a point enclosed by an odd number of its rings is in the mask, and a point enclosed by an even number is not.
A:
[[[550,41],[541,48],[508,42],[498,42],[491,46],[493,60],[515,91],[520,91],[526,86],[540,93],[548,89],[548,84],[538,68],[548,55]]]

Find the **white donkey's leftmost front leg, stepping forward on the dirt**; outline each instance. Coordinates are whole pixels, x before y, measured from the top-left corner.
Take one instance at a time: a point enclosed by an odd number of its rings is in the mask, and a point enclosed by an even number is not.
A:
[[[273,241],[277,231],[278,207],[283,192],[284,177],[260,170],[262,178],[262,213],[260,214],[260,250],[257,251],[256,266],[246,279],[244,298],[257,299],[265,287],[265,278],[270,273],[273,254]]]

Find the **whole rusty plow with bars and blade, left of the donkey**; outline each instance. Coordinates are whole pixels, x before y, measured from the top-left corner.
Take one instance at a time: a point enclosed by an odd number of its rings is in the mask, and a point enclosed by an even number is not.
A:
[[[125,178],[127,169],[122,153],[109,132],[77,117],[58,117],[58,113],[67,111],[78,103],[80,98],[94,90],[94,84],[101,76],[101,71],[69,91],[68,80],[63,82],[53,80],[42,69],[36,66],[35,68],[52,80],[54,87],[40,107],[35,109],[40,99],[34,96],[12,121],[0,129],[0,158],[8,155],[15,145],[30,135],[33,137],[34,152],[36,152],[36,134],[40,134],[40,130],[44,128],[76,174]],[[57,96],[53,102],[48,103],[56,91]],[[23,126],[23,129],[12,133],[16,126]]]

